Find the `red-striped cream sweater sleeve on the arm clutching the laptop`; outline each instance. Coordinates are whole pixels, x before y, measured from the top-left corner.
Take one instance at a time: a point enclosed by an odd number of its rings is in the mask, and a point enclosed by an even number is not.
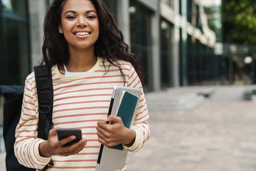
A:
[[[140,78],[138,77],[138,75],[132,65],[130,67],[130,75],[128,78],[127,87],[141,89],[141,96],[140,96],[140,101],[139,101],[139,105],[138,105],[138,109],[137,109],[137,114],[135,117],[135,123],[130,128],[130,129],[133,129],[136,133],[135,142],[130,147],[127,147],[125,144],[123,144],[123,147],[125,149],[127,149],[128,151],[137,152],[138,150],[140,150],[143,147],[146,140],[150,137],[150,127],[147,122],[148,111],[147,111],[147,104],[146,104],[146,99],[144,96],[142,84],[141,84]]]

